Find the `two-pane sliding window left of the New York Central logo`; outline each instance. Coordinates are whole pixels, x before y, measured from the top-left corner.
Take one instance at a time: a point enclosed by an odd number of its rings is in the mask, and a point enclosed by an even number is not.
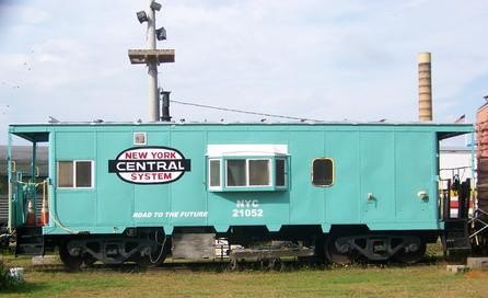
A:
[[[93,187],[93,161],[58,161],[58,187]]]

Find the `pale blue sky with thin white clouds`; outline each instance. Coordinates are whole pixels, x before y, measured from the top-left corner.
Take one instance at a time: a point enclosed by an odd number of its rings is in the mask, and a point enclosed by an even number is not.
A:
[[[417,54],[432,53],[433,118],[475,121],[488,95],[488,1],[169,0],[176,62],[160,85],[189,103],[319,121],[416,122]],[[148,121],[147,0],[0,0],[0,145],[8,125]],[[173,103],[179,122],[263,116]],[[270,122],[284,119],[269,118]]]

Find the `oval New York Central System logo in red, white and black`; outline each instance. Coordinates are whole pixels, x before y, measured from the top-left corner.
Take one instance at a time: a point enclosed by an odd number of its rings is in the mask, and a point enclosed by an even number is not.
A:
[[[108,160],[108,172],[129,183],[163,184],[175,182],[190,171],[190,160],[169,147],[135,147]]]

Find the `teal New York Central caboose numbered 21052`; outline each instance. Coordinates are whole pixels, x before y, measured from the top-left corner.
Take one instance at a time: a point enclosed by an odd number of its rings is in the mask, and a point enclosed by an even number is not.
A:
[[[33,145],[30,176],[38,146],[49,171],[25,181],[9,151],[9,227],[18,253],[56,245],[69,266],[160,263],[169,252],[211,259],[216,237],[288,240],[332,262],[416,262],[444,230],[439,144],[467,133],[472,125],[11,125],[9,148],[14,137]]]

